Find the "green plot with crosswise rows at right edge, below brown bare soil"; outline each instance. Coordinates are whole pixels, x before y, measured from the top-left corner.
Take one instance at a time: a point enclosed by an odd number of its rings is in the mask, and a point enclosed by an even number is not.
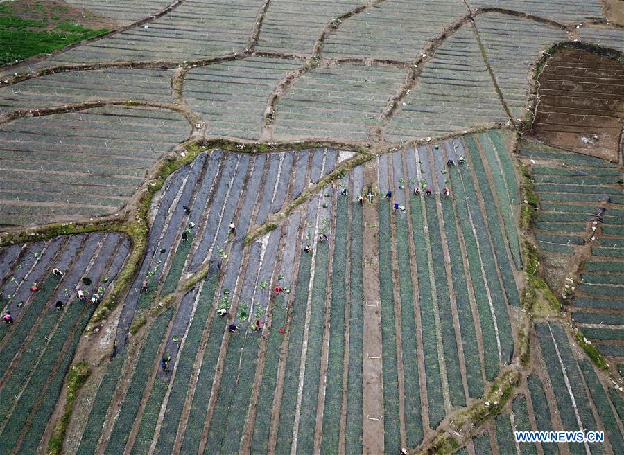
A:
[[[532,180],[540,210],[535,222],[539,248],[547,255],[580,256],[579,279],[566,280],[575,323],[598,350],[624,357],[624,199],[622,172],[614,163],[526,142],[521,155],[533,159]]]

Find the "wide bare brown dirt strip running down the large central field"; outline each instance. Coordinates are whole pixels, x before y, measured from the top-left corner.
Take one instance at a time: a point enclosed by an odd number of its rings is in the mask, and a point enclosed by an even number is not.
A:
[[[364,186],[377,184],[377,164],[364,166]],[[383,377],[379,301],[379,212],[377,202],[363,207],[363,447],[365,455],[383,454]],[[374,227],[373,227],[374,226]]]

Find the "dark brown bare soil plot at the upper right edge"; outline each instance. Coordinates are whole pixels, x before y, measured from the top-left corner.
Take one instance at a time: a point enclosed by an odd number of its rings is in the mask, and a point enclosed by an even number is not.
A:
[[[548,60],[538,82],[532,136],[617,163],[624,65],[578,48],[562,48]]]

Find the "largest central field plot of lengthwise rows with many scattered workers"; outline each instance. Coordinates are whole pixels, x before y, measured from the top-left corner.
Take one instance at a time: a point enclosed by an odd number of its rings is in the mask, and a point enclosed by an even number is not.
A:
[[[361,452],[363,401],[372,399],[362,389],[363,357],[370,355],[363,345],[370,305],[363,289],[375,279],[365,264],[375,260],[399,270],[398,280],[389,269],[376,278],[385,451],[421,443],[447,414],[481,398],[512,358],[517,238],[508,239],[503,220],[517,210],[518,188],[514,169],[496,158],[505,148],[493,148],[508,139],[490,132],[384,155],[374,161],[374,181],[365,181],[362,166],[354,168],[249,244],[242,242],[249,226],[331,172],[335,151],[216,151],[175,172],[157,202],[148,257],[121,311],[117,354],[99,375],[76,453],[139,454],[151,446],[160,454],[175,447],[181,453],[308,454],[343,444]],[[465,164],[446,166],[460,155]],[[480,183],[494,172],[504,176],[505,188],[496,202]],[[370,184],[379,195],[394,192],[392,201],[376,195],[365,202],[379,220],[374,226],[365,224],[367,208],[357,200]],[[431,186],[434,195],[414,195],[421,186]],[[452,197],[440,197],[444,186]],[[283,193],[285,201],[272,199]],[[395,201],[405,211],[392,213]],[[500,209],[485,211],[485,201]],[[489,226],[492,238],[476,236],[475,226]],[[364,256],[366,229],[379,230],[378,258]],[[180,240],[184,231],[189,240]],[[144,338],[128,338],[133,318],[200,267],[207,267],[205,280],[148,319]],[[146,276],[148,292],[141,293]],[[219,317],[223,308],[228,313]],[[444,335],[449,332],[455,335]],[[128,349],[136,343],[142,347],[132,357]],[[167,372],[159,368],[165,355],[171,356]]]

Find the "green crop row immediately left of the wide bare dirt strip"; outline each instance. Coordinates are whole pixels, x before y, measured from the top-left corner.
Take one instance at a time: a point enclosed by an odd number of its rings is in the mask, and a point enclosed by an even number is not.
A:
[[[349,276],[349,371],[347,376],[347,424],[345,453],[362,452],[362,376],[364,338],[364,283],[363,283],[363,217],[362,206],[353,204],[351,215]]]

